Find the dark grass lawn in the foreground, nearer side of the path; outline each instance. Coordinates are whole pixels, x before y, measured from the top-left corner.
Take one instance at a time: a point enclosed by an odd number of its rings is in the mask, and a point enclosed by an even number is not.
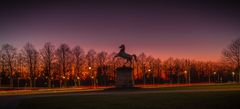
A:
[[[240,92],[79,95],[23,100],[18,109],[237,109]]]

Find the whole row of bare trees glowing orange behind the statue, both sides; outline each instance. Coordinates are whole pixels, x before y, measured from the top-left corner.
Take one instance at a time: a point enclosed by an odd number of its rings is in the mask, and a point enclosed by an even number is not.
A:
[[[0,51],[0,87],[69,87],[114,85],[115,69],[125,63],[116,53],[85,52],[80,46],[55,47],[51,42],[37,50],[26,43],[17,50],[3,44]],[[240,39],[222,53],[222,61],[205,62],[170,57],[161,60],[145,53],[133,64],[136,84],[240,82]]]

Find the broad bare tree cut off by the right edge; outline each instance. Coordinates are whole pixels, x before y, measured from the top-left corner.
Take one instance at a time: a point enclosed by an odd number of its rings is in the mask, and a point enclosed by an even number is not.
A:
[[[240,38],[232,41],[232,43],[223,50],[223,57],[226,61],[235,65],[240,83]]]

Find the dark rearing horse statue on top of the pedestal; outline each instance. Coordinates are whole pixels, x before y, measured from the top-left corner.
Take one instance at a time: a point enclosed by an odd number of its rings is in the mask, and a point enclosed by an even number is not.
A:
[[[127,61],[126,61],[125,64],[127,64],[127,63],[130,62],[130,65],[132,65],[133,59],[134,59],[135,61],[137,61],[137,56],[136,56],[135,54],[130,55],[130,54],[128,54],[128,53],[125,52],[125,45],[122,44],[119,48],[120,48],[120,51],[118,52],[118,54],[116,54],[116,55],[114,56],[114,58],[116,58],[116,57],[121,57],[121,58],[123,58],[123,59],[126,59]]]

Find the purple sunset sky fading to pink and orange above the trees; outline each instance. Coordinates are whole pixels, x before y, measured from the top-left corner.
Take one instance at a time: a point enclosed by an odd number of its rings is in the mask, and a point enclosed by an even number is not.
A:
[[[240,37],[239,4],[224,0],[3,3],[0,44],[47,41],[85,50],[217,61]]]

